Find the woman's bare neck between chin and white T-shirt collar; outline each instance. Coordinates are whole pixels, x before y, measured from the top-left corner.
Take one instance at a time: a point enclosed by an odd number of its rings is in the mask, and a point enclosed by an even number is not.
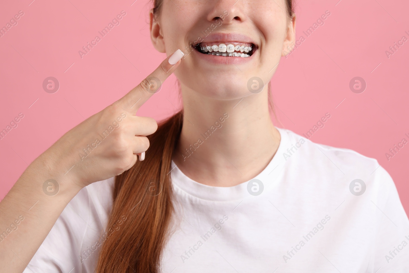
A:
[[[182,86],[184,120],[173,161],[189,178],[230,187],[254,178],[277,151],[267,88],[243,99],[212,99]]]

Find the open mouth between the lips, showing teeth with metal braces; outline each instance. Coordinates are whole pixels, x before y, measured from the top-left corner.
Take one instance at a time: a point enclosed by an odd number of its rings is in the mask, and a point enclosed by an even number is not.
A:
[[[254,54],[257,46],[253,43],[241,42],[204,42],[196,45],[195,49],[207,55],[248,58]]]

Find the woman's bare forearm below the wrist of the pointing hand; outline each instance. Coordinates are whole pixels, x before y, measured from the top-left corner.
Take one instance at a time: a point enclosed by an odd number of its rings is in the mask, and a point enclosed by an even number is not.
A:
[[[80,190],[72,186],[74,178],[51,161],[41,156],[34,160],[0,203],[0,272],[25,269]]]

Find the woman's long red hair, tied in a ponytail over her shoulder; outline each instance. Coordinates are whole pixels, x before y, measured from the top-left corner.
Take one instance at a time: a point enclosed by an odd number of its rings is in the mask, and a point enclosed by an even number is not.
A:
[[[153,1],[155,16],[160,14],[162,2]],[[292,18],[292,0],[286,0],[286,3],[288,16]],[[272,110],[270,89],[269,83]],[[122,221],[119,229],[103,242],[96,272],[160,272],[162,249],[169,237],[169,223],[173,215],[171,161],[182,125],[181,112],[158,124],[157,131],[148,136],[150,147],[145,160],[137,161],[132,168],[116,177],[107,227]]]

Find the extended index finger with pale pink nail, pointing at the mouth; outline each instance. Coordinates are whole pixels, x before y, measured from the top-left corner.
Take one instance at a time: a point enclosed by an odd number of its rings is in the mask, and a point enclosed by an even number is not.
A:
[[[182,50],[176,50],[175,53],[162,61],[155,71],[149,74],[138,86],[119,99],[119,103],[124,104],[125,109],[128,108],[129,111],[136,113],[139,107],[155,94],[167,77],[176,70],[183,56]]]

